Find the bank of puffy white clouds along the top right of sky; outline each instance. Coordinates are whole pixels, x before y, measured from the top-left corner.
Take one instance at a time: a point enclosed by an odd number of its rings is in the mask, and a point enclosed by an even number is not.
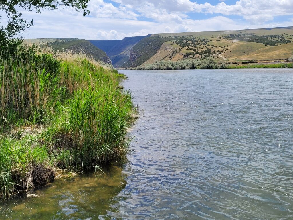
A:
[[[226,4],[224,1],[212,5],[209,2],[197,4],[190,0],[113,0],[120,5],[132,5],[148,18],[160,21],[160,15],[166,13],[172,18],[179,13],[209,13],[222,14],[225,16],[237,15],[251,23],[262,23],[273,20],[276,16],[293,15],[292,0],[239,0],[235,4]],[[150,11],[152,13],[150,13]],[[150,15],[151,14],[151,15]],[[269,15],[269,16],[268,16]],[[182,18],[182,16],[180,16]]]

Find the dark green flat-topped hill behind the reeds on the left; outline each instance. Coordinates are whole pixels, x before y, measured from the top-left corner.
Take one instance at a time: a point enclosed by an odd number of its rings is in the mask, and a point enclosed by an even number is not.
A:
[[[101,60],[105,63],[111,63],[110,58],[100,48],[93,45],[88,40],[78,38],[39,38],[25,39],[25,42],[47,44],[54,50],[71,50],[74,53],[86,53],[91,55],[95,60]]]

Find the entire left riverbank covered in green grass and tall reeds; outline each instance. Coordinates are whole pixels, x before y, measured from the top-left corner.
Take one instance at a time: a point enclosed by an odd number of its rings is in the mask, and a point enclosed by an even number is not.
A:
[[[0,196],[127,153],[134,106],[124,75],[85,55],[25,49],[0,57]]]

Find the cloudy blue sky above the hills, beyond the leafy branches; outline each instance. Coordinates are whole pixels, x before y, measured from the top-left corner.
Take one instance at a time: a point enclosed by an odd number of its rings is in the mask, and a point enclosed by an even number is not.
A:
[[[293,0],[90,0],[83,17],[71,8],[22,11],[35,25],[23,38],[113,40],[150,33],[293,26]],[[3,21],[2,21],[3,22]]]

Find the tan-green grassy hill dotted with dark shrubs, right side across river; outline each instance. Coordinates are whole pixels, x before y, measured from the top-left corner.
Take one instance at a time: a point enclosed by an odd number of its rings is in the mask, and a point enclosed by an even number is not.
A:
[[[212,55],[219,60],[223,56],[227,60],[236,61],[280,59],[293,54],[293,27],[161,33],[151,36],[173,38],[165,43],[185,57],[189,54],[194,58]]]

